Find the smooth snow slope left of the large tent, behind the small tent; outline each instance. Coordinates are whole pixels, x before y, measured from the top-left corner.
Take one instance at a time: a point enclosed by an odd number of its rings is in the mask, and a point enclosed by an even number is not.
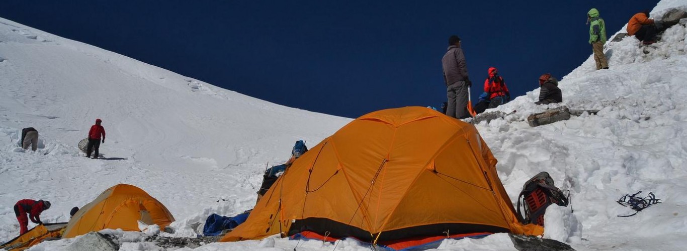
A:
[[[219,199],[246,203],[236,206],[243,211],[254,203],[268,162],[283,163],[298,139],[314,145],[350,121],[247,97],[4,19],[0,57],[0,242],[17,233],[16,200],[50,200],[43,219],[67,221],[72,206],[120,182],[148,191],[177,219]],[[89,160],[76,145],[96,118],[106,130],[104,158]],[[16,141],[30,126],[43,147],[24,153]]]

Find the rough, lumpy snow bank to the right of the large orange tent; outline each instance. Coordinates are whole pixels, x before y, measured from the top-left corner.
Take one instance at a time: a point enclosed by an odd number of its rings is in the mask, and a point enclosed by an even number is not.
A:
[[[661,1],[651,16],[660,17],[667,8],[687,10],[687,1]],[[530,128],[527,116],[547,108],[533,104],[537,89],[497,108],[515,110],[513,115],[477,126],[499,160],[499,175],[511,198],[539,171],[548,171],[559,187],[570,189],[574,213],[550,207],[545,237],[578,250],[684,250],[686,37],[685,27],[675,25],[653,47],[640,48],[634,37],[607,43],[609,70],[596,71],[590,56],[563,77],[563,104],[600,110],[598,115]],[[617,217],[634,211],[616,200],[638,191],[642,197],[653,192],[663,203],[633,217]]]

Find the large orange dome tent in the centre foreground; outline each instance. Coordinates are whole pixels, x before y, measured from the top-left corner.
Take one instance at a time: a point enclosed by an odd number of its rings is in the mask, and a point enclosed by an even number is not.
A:
[[[298,158],[221,241],[304,231],[370,242],[541,235],[519,222],[496,163],[469,123],[423,107],[371,112]]]

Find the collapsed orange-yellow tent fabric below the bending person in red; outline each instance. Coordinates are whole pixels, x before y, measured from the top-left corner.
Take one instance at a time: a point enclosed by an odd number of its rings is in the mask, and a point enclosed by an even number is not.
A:
[[[43,241],[60,239],[66,226],[67,222],[38,225],[23,235],[19,235],[19,237],[0,245],[0,249],[10,251],[26,250]]]

